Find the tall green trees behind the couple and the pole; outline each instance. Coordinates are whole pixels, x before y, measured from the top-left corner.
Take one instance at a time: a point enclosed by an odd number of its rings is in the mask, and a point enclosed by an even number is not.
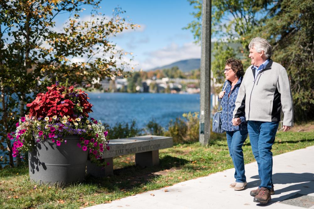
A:
[[[188,0],[196,12],[195,20],[187,25],[200,41],[200,0]],[[273,46],[272,59],[283,65],[288,73],[297,121],[314,118],[314,2],[312,0],[212,1],[212,34],[219,42],[238,43],[242,47],[216,46],[213,69],[223,69],[226,58],[238,56],[250,66],[248,44],[260,36]],[[230,53],[234,51],[234,54]],[[240,55],[240,56],[239,56]],[[218,74],[215,74],[215,77]]]

